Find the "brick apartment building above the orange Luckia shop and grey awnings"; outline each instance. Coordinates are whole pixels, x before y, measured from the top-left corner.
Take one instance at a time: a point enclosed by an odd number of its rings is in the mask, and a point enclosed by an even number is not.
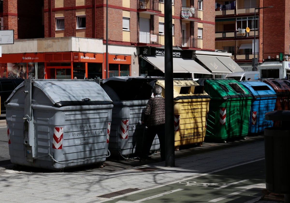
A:
[[[1,33],[10,37],[0,43],[0,76],[163,76],[164,1],[108,0],[107,7],[104,0],[0,0]],[[242,70],[231,53],[215,50],[214,4],[172,0],[174,77],[221,78]]]

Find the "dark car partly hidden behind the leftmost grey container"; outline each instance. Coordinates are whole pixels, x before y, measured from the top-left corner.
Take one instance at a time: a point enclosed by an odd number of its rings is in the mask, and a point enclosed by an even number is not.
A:
[[[0,78],[1,114],[6,114],[6,108],[4,106],[5,101],[13,90],[23,81],[24,79],[22,78]]]

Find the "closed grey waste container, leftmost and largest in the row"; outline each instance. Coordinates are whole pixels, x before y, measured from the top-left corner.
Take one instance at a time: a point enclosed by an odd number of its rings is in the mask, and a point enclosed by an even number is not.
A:
[[[59,170],[110,155],[113,102],[93,80],[26,79],[5,106],[13,164]]]

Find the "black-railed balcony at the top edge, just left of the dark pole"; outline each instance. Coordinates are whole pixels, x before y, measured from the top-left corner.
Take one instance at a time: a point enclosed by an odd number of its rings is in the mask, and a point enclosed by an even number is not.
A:
[[[150,15],[161,14],[159,0],[139,0],[137,12]]]

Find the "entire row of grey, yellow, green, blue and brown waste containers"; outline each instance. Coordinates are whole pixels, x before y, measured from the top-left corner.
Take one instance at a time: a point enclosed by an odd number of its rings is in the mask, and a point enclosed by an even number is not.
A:
[[[142,154],[142,112],[155,84],[164,97],[164,77],[26,79],[5,102],[11,162],[59,170]],[[290,81],[174,79],[173,97],[176,148],[226,142],[279,125],[265,113],[290,110]]]

